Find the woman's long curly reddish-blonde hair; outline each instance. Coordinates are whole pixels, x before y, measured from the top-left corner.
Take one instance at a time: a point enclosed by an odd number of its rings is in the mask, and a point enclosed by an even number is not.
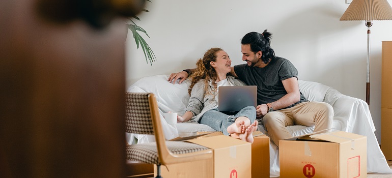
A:
[[[207,91],[208,89],[208,81],[213,81],[212,84],[214,88],[216,88],[216,83],[214,82],[216,80],[216,72],[215,69],[211,66],[211,61],[216,62],[216,57],[217,53],[219,51],[223,51],[221,48],[211,48],[207,50],[206,53],[204,53],[204,56],[202,59],[199,59],[198,62],[196,63],[197,69],[195,72],[192,73],[190,76],[191,78],[191,83],[190,83],[190,88],[188,90],[188,93],[190,95],[192,88],[194,84],[196,84],[199,80],[204,79],[204,90]]]

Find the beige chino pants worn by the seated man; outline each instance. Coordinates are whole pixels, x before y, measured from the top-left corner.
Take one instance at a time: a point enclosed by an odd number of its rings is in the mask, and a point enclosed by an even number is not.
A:
[[[302,102],[294,107],[268,112],[262,119],[266,132],[272,141],[279,146],[279,140],[293,137],[287,126],[315,126],[315,132],[330,129],[333,119],[333,108],[324,102]]]

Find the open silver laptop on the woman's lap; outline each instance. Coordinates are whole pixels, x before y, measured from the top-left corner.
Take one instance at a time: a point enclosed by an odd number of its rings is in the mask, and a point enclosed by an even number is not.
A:
[[[219,86],[219,111],[237,112],[246,106],[257,107],[257,86]]]

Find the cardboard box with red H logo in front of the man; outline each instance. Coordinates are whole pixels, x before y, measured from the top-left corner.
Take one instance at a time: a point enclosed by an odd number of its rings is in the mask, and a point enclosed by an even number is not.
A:
[[[342,131],[280,140],[280,177],[367,177],[366,144]]]

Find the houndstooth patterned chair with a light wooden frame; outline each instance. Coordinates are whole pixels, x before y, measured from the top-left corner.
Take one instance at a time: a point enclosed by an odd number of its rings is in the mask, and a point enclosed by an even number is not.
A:
[[[151,143],[132,144],[126,149],[127,159],[157,165],[176,164],[208,159],[212,151],[207,147],[179,141],[165,141],[158,105],[152,93],[126,93],[126,132],[153,134]]]

